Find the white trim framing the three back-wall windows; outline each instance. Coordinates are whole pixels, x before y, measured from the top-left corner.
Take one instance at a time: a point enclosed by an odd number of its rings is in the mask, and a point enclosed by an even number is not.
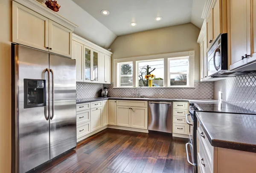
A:
[[[189,85],[184,86],[168,86],[168,78],[169,78],[169,58],[179,58],[179,57],[189,57]],[[141,57],[129,57],[129,58],[121,58],[121,59],[114,59],[114,87],[113,88],[137,88],[137,64],[136,61],[143,61],[143,60],[157,60],[157,59],[164,59],[164,86],[160,88],[195,88],[194,81],[195,81],[195,51],[184,51],[184,52],[175,52],[169,54],[156,54],[156,55],[148,55],[148,56],[141,56]],[[133,64],[133,86],[132,87],[119,87],[117,86],[117,74],[119,72],[118,63],[131,63]],[[138,87],[139,88],[139,87]],[[147,87],[143,87],[147,88]],[[151,87],[151,88],[159,88],[159,87]]]

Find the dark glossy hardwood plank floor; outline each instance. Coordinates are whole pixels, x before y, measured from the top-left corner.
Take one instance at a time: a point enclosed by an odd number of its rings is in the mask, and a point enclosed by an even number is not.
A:
[[[105,129],[33,173],[192,173],[187,139]]]

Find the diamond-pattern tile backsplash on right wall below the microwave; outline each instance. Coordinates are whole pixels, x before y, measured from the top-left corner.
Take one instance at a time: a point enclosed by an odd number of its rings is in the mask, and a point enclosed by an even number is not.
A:
[[[219,80],[214,85],[215,99],[222,91],[224,102],[256,111],[256,73]]]

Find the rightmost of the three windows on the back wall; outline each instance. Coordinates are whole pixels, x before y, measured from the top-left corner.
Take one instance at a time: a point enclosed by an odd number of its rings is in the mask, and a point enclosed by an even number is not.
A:
[[[169,58],[168,86],[189,85],[189,57]]]

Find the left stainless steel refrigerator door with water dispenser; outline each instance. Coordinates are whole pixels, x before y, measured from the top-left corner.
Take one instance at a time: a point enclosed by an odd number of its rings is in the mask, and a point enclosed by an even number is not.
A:
[[[17,173],[25,173],[50,158],[48,94],[45,98],[46,106],[24,108],[28,102],[24,102],[24,94],[31,97],[31,100],[36,93],[24,92],[24,79],[41,79],[48,83],[46,69],[49,67],[49,53],[15,45],[15,56],[12,58],[15,58],[15,169]],[[47,85],[45,87],[48,93]]]

